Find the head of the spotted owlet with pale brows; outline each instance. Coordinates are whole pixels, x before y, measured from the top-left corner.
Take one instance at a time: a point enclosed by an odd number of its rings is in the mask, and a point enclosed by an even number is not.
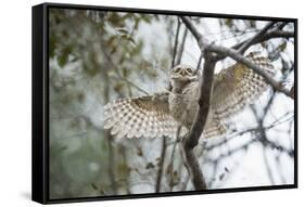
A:
[[[171,82],[190,82],[198,79],[198,70],[190,65],[177,65],[170,70]]]

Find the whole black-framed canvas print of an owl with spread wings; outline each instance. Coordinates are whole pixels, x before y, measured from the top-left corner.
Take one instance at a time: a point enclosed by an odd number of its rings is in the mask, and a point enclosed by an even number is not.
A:
[[[297,21],[33,8],[33,199],[297,186]]]

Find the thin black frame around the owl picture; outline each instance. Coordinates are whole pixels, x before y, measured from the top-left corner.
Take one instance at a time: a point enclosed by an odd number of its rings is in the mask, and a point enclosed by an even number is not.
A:
[[[113,12],[137,12],[149,14],[186,15],[204,17],[226,17],[257,21],[281,21],[294,24],[294,183],[272,186],[249,186],[236,189],[217,189],[191,192],[130,194],[98,197],[77,197],[50,199],[49,196],[49,10],[50,9],[75,9],[98,10]],[[185,11],[164,11],[131,8],[111,8],[96,5],[42,3],[33,7],[33,157],[31,157],[31,199],[41,204],[58,204],[72,202],[91,202],[125,198],[144,198],[160,196],[181,196],[194,194],[212,194],[245,191],[282,190],[297,187],[297,20],[285,17],[212,14]]]

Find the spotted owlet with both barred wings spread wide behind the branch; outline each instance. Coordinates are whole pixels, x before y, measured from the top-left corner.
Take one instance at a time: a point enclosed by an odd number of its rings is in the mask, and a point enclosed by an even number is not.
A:
[[[274,66],[259,52],[246,59],[275,74]],[[170,70],[168,92],[153,95],[115,100],[104,107],[104,128],[116,138],[175,138],[178,127],[190,130],[199,109],[199,73],[188,65]],[[226,133],[226,120],[241,112],[267,89],[264,78],[246,66],[237,63],[221,69],[214,77],[211,107],[201,137],[204,139]]]

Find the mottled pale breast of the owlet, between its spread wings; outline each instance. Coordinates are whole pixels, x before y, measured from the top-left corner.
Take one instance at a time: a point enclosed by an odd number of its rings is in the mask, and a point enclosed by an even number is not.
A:
[[[199,82],[190,82],[179,91],[181,93],[176,93],[174,89],[169,94],[169,112],[178,122],[190,129],[199,108]]]

